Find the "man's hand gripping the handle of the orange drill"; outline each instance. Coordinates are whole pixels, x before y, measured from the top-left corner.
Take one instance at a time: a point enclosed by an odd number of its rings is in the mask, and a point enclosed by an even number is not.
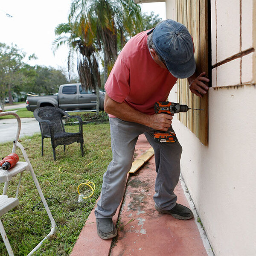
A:
[[[153,114],[148,116],[150,127],[154,130],[168,131],[172,124],[172,116],[167,114]]]

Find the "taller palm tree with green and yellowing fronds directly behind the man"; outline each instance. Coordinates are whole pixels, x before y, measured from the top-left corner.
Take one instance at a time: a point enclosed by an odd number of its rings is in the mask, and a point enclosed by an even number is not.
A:
[[[117,39],[123,46],[125,35],[134,35],[142,28],[140,6],[133,0],[74,0],[69,21],[85,21],[85,33],[91,33],[98,50],[103,51],[104,83],[108,67],[117,57]]]

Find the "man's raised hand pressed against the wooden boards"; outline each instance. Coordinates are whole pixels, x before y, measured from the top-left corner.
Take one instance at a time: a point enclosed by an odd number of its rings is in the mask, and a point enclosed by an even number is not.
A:
[[[189,89],[191,90],[192,93],[195,93],[195,95],[201,98],[209,90],[209,87],[205,84],[205,82],[208,83],[210,80],[204,77],[205,74],[205,72],[201,73],[199,76],[196,76],[194,74],[188,78]]]

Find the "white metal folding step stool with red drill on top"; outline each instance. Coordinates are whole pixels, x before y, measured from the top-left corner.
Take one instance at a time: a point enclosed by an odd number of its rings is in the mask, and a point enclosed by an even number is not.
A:
[[[36,186],[36,188],[38,190],[38,193],[41,197],[41,201],[44,204],[44,208],[46,209],[48,217],[49,217],[49,219],[51,221],[51,224],[52,224],[50,233],[28,254],[28,255],[32,255],[32,253],[34,253],[36,250],[38,250],[38,248],[42,245],[42,243],[45,239],[47,239],[49,236],[54,234],[56,224],[55,224],[55,221],[52,217],[52,213],[50,212],[48,204],[47,204],[47,202],[44,198],[44,194],[41,190],[41,187],[38,183],[38,180],[35,176],[35,172],[34,172],[32,166],[31,166],[31,163],[29,161],[29,157],[26,154],[25,148],[23,148],[23,146],[18,142],[18,139],[19,139],[19,136],[20,136],[20,128],[21,128],[20,117],[15,112],[2,112],[2,113],[0,113],[0,116],[7,116],[7,115],[15,116],[16,119],[17,119],[17,122],[18,122],[17,134],[16,134],[16,137],[15,137],[15,140],[13,141],[14,145],[13,145],[13,148],[12,148],[12,153],[15,153],[16,148],[19,147],[26,162],[18,162],[12,169],[9,169],[9,170],[6,170],[6,171],[4,171],[2,168],[0,168],[0,183],[3,183],[3,182],[5,183],[4,188],[3,188],[3,195],[0,195],[0,217],[19,204],[19,200],[18,200],[17,197],[18,197],[20,182],[21,182],[23,171],[27,170],[31,173],[31,176],[34,180],[35,186]],[[17,175],[19,173],[20,173],[20,180],[19,180],[19,183],[18,183],[18,186],[17,186],[16,197],[15,198],[8,198],[8,196],[6,195],[6,191],[7,191],[7,188],[8,188],[8,183],[9,183],[10,180],[12,180],[12,177],[14,177],[15,175]],[[13,251],[12,251],[12,247],[9,243],[9,240],[7,238],[7,235],[6,235],[6,232],[4,230],[4,227],[3,227],[3,224],[1,222],[1,220],[0,220],[0,233],[2,235],[4,244],[6,246],[6,249],[7,249],[8,253],[9,253],[9,256],[14,256]]]

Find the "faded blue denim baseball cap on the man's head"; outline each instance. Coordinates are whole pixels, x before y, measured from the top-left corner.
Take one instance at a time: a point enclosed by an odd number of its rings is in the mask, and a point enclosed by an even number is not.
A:
[[[164,20],[152,29],[157,53],[176,78],[188,78],[195,73],[194,44],[188,29],[175,20]]]

